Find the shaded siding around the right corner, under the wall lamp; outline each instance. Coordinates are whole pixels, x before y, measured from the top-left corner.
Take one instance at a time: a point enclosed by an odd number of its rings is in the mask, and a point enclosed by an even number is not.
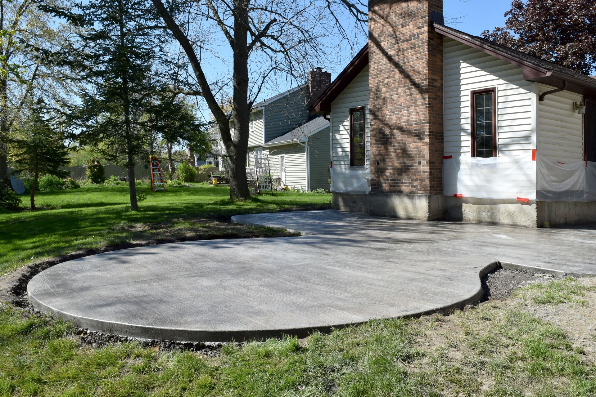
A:
[[[538,94],[555,87],[538,85]],[[538,102],[537,153],[555,161],[583,160],[583,115],[573,109],[580,102],[579,94],[563,91]]]

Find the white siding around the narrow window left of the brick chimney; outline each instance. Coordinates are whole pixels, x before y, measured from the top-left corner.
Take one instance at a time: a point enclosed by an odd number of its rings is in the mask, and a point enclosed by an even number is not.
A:
[[[364,106],[366,165],[370,165],[368,66],[331,103],[333,164],[350,165],[350,109]]]

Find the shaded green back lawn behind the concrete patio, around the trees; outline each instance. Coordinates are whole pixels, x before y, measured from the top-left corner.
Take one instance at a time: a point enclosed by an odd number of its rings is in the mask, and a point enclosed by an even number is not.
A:
[[[149,186],[142,189],[150,192]],[[217,221],[231,215],[331,207],[331,195],[276,192],[232,202],[224,186],[172,187],[148,193],[138,212],[129,210],[127,186],[91,186],[42,192],[36,205],[48,209],[0,213],[0,275],[27,263],[83,248],[131,240],[156,239],[172,233],[196,233],[197,239],[235,235]],[[28,198],[23,196],[23,205]],[[253,236],[274,236],[269,228],[252,228]]]

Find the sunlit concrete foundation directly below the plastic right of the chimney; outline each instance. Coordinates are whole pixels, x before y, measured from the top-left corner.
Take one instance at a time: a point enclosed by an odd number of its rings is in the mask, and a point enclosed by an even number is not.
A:
[[[536,202],[443,196],[445,220],[536,227]]]

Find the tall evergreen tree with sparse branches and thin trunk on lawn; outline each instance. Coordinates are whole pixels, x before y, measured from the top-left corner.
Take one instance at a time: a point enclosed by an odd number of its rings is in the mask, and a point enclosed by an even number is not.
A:
[[[77,142],[127,168],[131,210],[136,211],[134,167],[139,158],[147,158],[156,129],[166,125],[176,135],[174,121],[180,118],[186,130],[200,133],[201,126],[193,114],[172,113],[177,102],[168,92],[167,76],[173,66],[160,35],[147,28],[151,13],[144,0],[91,0],[53,11],[80,27],[83,43],[73,46],[65,61],[80,71],[86,87],[80,104],[70,105],[66,122]],[[159,124],[163,117],[158,113],[164,110],[170,121]]]

